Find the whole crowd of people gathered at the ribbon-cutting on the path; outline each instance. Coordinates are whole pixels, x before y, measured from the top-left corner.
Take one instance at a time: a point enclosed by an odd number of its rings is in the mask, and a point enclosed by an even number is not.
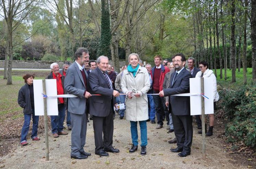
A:
[[[117,111],[119,119],[130,121],[132,146],[130,153],[138,149],[139,123],[141,132],[141,155],[146,155],[147,122],[156,124],[157,129],[163,128],[166,120],[168,133],[174,132],[175,138],[169,143],[176,143],[171,152],[185,157],[191,153],[193,138],[192,116],[190,115],[190,98],[173,96],[189,93],[190,78],[211,77],[214,86],[214,103],[219,99],[216,77],[209,70],[207,62],[199,62],[195,67],[195,59],[186,61],[182,53],[162,60],[154,57],[155,65],[145,67],[137,53],[129,55],[129,64],[122,66],[117,73],[109,64],[108,57],[100,56],[97,60],[89,60],[89,52],[80,47],[75,52],[75,61],[64,62],[60,70],[57,63],[50,65],[51,72],[46,79],[56,79],[57,94],[73,94],[77,97],[58,98],[58,116],[51,116],[51,129],[54,138],[67,135],[66,125],[71,133],[71,158],[85,159],[91,153],[85,152],[87,122],[93,120],[95,154],[109,156],[108,152],[119,153],[113,147],[114,106],[125,104],[124,109]],[[187,68],[186,65],[187,64]],[[25,85],[20,89],[18,103],[24,109],[24,125],[21,131],[21,145],[27,145],[27,134],[31,117],[33,118],[32,140],[40,140],[37,136],[38,116],[35,116],[33,79],[34,75],[26,74]],[[97,96],[95,96],[97,94]],[[126,112],[126,113],[125,113]],[[198,133],[202,134],[200,116],[196,116]],[[209,114],[209,130],[207,136],[212,136],[214,115]],[[205,124],[206,125],[206,124]],[[102,136],[103,134],[103,136]]]

